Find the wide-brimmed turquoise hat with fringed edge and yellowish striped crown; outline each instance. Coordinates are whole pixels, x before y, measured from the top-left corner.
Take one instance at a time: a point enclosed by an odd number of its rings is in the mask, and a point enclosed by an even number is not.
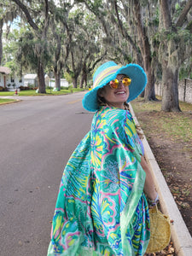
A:
[[[83,107],[91,112],[95,112],[99,109],[99,104],[97,101],[97,90],[107,85],[111,80],[116,79],[118,74],[125,74],[131,79],[131,84],[129,85],[130,95],[127,102],[131,102],[137,96],[139,96],[146,84],[147,75],[137,64],[127,64],[126,66],[117,65],[113,61],[108,61],[102,66],[96,69],[93,76],[93,86],[92,89],[84,95]]]

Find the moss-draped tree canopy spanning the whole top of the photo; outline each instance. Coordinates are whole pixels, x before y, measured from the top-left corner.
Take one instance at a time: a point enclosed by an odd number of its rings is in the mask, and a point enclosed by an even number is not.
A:
[[[39,92],[45,92],[45,71],[54,72],[60,90],[60,79],[65,73],[71,76],[74,87],[82,87],[87,86],[90,75],[102,61],[123,65],[137,62],[148,76],[145,101],[155,100],[154,83],[160,80],[162,110],[180,111],[179,74],[192,76],[192,0],[10,3],[11,9],[8,1],[0,3],[0,29],[16,17],[20,20],[20,32],[0,32],[0,36],[3,34],[4,40],[6,37],[9,41],[15,38],[9,44],[14,49],[11,61],[17,61],[20,70],[27,67],[38,73]],[[1,56],[10,55],[8,44],[1,48],[2,42],[0,37],[0,60]]]

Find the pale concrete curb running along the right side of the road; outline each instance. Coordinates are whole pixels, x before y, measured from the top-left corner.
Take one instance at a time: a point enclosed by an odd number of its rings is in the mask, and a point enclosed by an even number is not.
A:
[[[131,104],[130,108],[135,123],[139,125]],[[145,148],[145,157],[152,170],[154,184],[160,197],[160,208],[163,213],[167,214],[169,218],[173,220],[171,231],[172,242],[176,251],[175,253],[177,256],[191,256],[192,237],[189,234],[189,230],[183,221],[182,215],[177,208],[177,204],[173,199],[172,193],[166,184],[166,180],[160,171],[160,166],[158,166],[158,163],[154,158],[154,154],[145,136],[143,139],[143,146]]]

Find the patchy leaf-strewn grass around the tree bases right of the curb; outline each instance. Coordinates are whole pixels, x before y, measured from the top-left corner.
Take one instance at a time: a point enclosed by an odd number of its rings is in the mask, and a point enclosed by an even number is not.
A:
[[[158,97],[160,99],[160,97]],[[161,99],[160,99],[161,100]],[[172,140],[182,140],[183,143],[191,143],[192,139],[192,104],[179,102],[182,112],[163,112],[160,102],[143,102],[141,98],[131,102],[134,112],[146,115],[148,123],[140,122],[144,133],[150,135],[151,130],[160,133],[165,132],[167,137]]]

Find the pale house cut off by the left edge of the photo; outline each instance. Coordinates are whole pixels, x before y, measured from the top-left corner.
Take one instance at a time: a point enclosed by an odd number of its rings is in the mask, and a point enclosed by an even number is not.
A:
[[[0,67],[0,88],[1,90],[15,90],[23,85],[23,76],[18,78],[11,74],[9,67]]]

